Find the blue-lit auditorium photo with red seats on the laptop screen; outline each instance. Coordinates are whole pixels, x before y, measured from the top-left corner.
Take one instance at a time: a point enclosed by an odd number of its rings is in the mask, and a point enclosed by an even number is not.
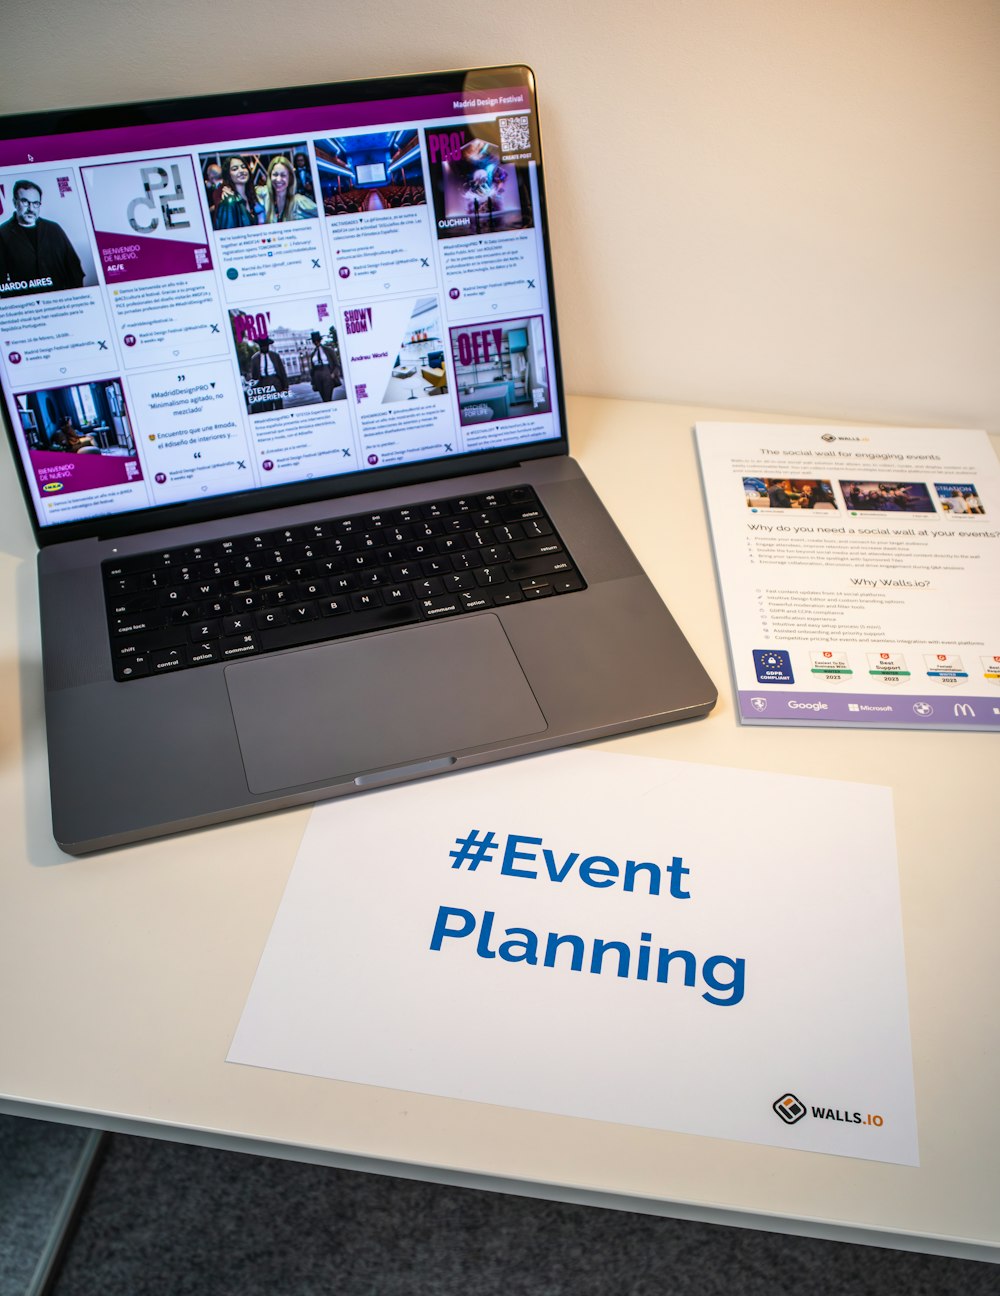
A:
[[[328,216],[427,201],[416,131],[378,131],[316,141],[323,210]]]

